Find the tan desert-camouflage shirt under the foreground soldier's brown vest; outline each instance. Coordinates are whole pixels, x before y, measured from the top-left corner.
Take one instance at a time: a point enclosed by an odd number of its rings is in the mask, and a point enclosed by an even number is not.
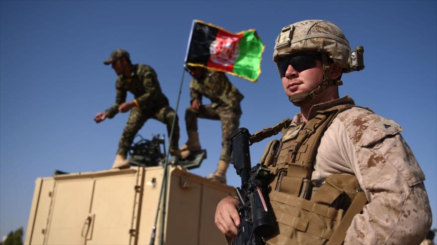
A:
[[[354,104],[349,96],[313,105],[316,111]],[[298,113],[291,125],[298,125]],[[431,208],[422,172],[394,121],[359,107],[340,113],[317,150],[312,180],[354,174],[369,203],[354,217],[344,244],[420,244],[431,227]]]

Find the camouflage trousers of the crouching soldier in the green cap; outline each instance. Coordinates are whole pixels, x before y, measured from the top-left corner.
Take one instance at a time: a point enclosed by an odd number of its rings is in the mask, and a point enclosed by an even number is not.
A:
[[[134,142],[135,135],[143,127],[146,121],[150,118],[156,119],[167,126],[167,135],[170,137],[171,124],[173,122],[173,117],[175,112],[173,108],[169,105],[157,108],[154,111],[144,111],[140,108],[134,107],[131,109],[131,114],[129,114],[129,120],[126,123],[125,129],[120,138],[120,143],[118,144],[117,154],[124,157],[127,156],[129,148]],[[173,137],[170,140],[170,147],[178,147],[179,143],[179,119],[176,115],[176,121],[173,129]]]

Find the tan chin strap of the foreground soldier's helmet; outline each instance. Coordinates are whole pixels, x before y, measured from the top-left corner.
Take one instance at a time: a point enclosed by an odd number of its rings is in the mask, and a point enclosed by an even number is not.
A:
[[[291,103],[293,103],[295,106],[301,106],[304,103],[307,103],[313,98],[316,98],[318,95],[320,95],[328,86],[341,86],[343,85],[343,82],[341,80],[336,79],[329,79],[330,73],[331,73],[331,67],[329,67],[328,63],[328,55],[327,53],[322,53],[322,62],[323,62],[323,82],[317,86],[313,91],[309,93],[299,93],[297,95],[291,96],[289,99]],[[298,102],[293,102],[293,100],[296,99],[302,99]]]

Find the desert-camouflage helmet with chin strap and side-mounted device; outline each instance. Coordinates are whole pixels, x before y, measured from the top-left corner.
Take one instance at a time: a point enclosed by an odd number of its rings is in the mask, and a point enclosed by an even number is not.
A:
[[[289,99],[296,106],[316,98],[329,86],[343,84],[339,78],[329,78],[330,61],[343,68],[343,73],[364,69],[364,48],[357,46],[355,50],[351,51],[349,41],[338,26],[325,20],[303,20],[282,28],[275,41],[273,61],[276,62],[280,77],[282,77],[279,69],[281,59],[299,53],[314,52],[321,54],[323,81],[309,93],[299,93],[291,96]]]

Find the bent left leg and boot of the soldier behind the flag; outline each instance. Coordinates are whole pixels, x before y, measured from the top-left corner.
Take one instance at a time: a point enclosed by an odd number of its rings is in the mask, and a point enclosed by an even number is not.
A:
[[[197,118],[206,118],[212,120],[219,120],[218,113],[211,108],[210,105],[202,105],[199,110],[193,109],[188,106],[185,111],[185,124],[187,127],[188,141],[185,143],[181,150],[200,150],[199,134],[197,132]]]

